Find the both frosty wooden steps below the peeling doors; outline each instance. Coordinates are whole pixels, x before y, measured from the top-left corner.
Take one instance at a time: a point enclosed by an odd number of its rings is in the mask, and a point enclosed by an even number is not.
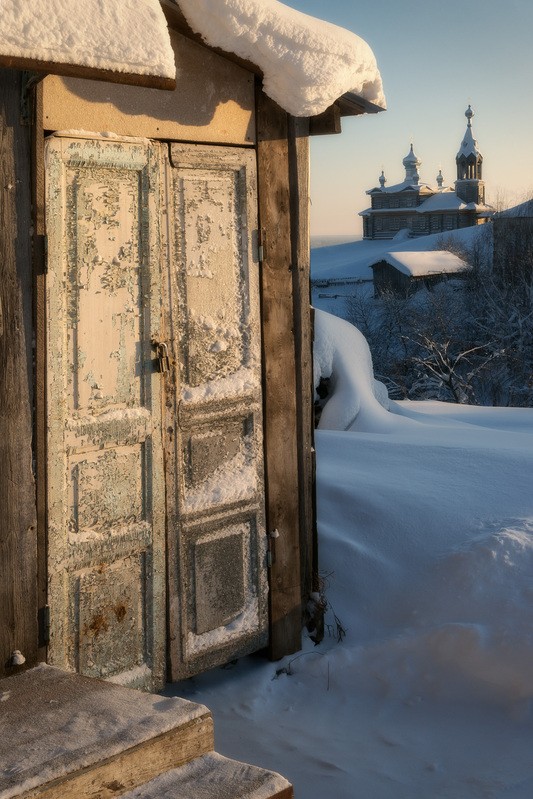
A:
[[[210,711],[184,699],[44,665],[0,680],[0,799],[292,796],[283,778],[225,761],[213,746]],[[215,792],[196,792],[195,779]]]

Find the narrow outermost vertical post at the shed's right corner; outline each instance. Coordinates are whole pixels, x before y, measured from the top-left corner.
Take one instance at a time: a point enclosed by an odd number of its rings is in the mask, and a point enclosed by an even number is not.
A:
[[[300,497],[302,603],[318,589],[315,513],[313,334],[311,325],[309,235],[309,119],[289,118],[291,250],[296,346],[296,410]]]

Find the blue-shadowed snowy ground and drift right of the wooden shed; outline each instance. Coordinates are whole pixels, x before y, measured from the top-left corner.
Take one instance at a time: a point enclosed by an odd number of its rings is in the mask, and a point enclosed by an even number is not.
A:
[[[531,799],[533,410],[390,403],[354,328],[317,332],[332,635],[173,690],[302,799]]]

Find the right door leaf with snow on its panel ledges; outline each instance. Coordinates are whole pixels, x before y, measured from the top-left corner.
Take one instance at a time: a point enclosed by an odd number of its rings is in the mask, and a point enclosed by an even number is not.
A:
[[[268,638],[255,153],[172,144],[167,496],[173,679]]]

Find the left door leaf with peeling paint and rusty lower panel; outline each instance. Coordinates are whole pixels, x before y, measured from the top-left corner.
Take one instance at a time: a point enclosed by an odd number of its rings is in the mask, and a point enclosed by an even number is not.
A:
[[[160,161],[47,142],[49,662],[164,680]]]

